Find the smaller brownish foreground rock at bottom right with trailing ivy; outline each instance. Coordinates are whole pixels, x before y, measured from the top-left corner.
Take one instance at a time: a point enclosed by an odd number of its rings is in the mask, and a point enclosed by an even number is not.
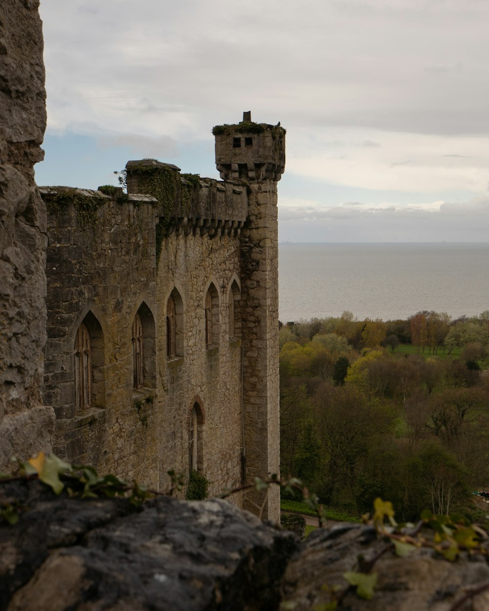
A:
[[[309,611],[331,601],[328,587],[347,587],[343,574],[362,557],[369,562],[386,547],[375,529],[362,524],[335,524],[313,532],[289,563],[282,596],[293,611]],[[448,562],[429,549],[408,557],[389,550],[375,563],[377,587],[370,601],[350,588],[338,609],[349,611],[449,611],[468,590],[489,585],[489,566],[480,555],[465,555]],[[489,592],[481,593],[458,609],[487,611]]]

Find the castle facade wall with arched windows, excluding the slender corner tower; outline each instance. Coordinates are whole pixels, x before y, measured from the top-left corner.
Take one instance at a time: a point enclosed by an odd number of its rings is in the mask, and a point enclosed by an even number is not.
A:
[[[178,170],[170,168],[168,175],[169,166],[161,166],[156,172],[162,171],[171,190],[179,183],[174,180],[180,178]],[[154,178],[151,172],[149,177]],[[228,185],[222,191],[213,183],[193,187],[196,205],[205,209],[205,202],[227,197],[228,211],[246,210],[243,188]],[[136,188],[134,181],[129,188]],[[50,211],[44,397],[56,410],[57,455],[163,487],[167,470],[188,470],[189,424],[196,406],[197,467],[210,480],[210,493],[238,485],[241,340],[239,324],[230,337],[229,295],[232,287],[240,291],[243,221],[199,218],[183,224],[174,218],[157,244],[161,202],[151,196],[130,193],[117,199],[116,191],[111,199],[100,191],[67,188],[41,192]],[[217,335],[206,346],[204,301],[210,283],[216,289]],[[181,314],[177,354],[169,358],[170,295]],[[153,365],[147,368],[153,373],[134,389],[131,326],[141,304],[152,320],[147,329]],[[89,409],[77,409],[75,397],[75,336],[83,321],[94,337],[100,325],[103,337],[103,358],[95,362],[92,357],[94,401]],[[149,349],[144,354],[148,359]]]

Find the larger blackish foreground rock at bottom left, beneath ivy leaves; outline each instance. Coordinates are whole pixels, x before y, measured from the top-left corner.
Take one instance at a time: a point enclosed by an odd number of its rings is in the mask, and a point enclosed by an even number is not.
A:
[[[298,546],[222,500],[160,497],[137,510],[56,498],[38,483],[0,495],[31,507],[0,527],[2,610],[274,609]]]

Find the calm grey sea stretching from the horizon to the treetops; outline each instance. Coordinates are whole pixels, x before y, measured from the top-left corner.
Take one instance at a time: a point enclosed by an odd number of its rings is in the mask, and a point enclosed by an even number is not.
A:
[[[279,244],[279,318],[489,310],[489,243]]]

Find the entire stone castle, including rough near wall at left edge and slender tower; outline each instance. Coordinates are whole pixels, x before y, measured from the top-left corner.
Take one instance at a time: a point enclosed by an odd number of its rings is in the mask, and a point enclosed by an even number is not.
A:
[[[0,469],[53,450],[157,489],[196,470],[211,494],[278,473],[285,130],[216,126],[222,181],[143,159],[127,193],[38,189],[37,5],[2,9]]]

